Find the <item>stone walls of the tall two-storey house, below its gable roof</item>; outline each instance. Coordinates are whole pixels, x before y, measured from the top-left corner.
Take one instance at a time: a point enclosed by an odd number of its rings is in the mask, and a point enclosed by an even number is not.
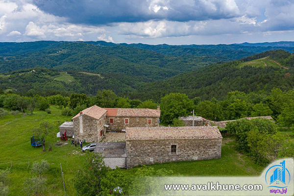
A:
[[[85,139],[86,142],[99,142],[105,135],[105,121],[106,113],[100,119],[95,119],[87,115],[80,115],[74,118],[74,137],[80,140]]]

